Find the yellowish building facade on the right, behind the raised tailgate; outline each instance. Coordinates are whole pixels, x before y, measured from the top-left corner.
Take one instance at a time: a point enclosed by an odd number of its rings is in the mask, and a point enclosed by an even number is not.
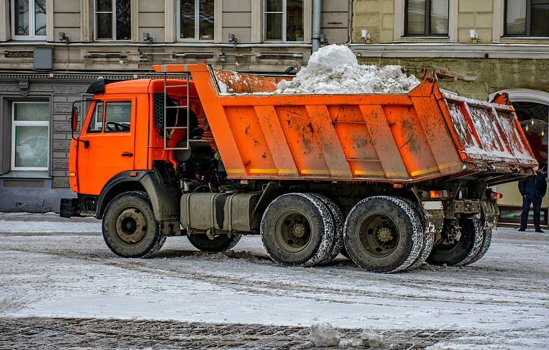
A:
[[[439,72],[439,86],[490,100],[508,93],[539,163],[548,158],[548,0],[355,0],[351,49],[362,64]],[[446,77],[446,78],[444,78]],[[519,222],[517,183],[498,185],[502,221]],[[547,221],[544,198],[542,222]],[[530,211],[531,213],[531,211]]]

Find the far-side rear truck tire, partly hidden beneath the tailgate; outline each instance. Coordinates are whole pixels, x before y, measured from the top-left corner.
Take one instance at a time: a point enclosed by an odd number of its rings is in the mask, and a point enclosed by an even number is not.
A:
[[[443,234],[448,230],[449,221],[445,220]],[[460,239],[457,242],[440,242],[433,247],[427,262],[431,265],[462,266],[476,257],[482,245],[482,224],[474,218],[458,220]]]

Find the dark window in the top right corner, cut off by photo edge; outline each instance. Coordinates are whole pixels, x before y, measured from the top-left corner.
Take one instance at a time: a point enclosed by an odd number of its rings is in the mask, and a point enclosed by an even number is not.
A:
[[[506,0],[506,36],[549,36],[549,0]]]

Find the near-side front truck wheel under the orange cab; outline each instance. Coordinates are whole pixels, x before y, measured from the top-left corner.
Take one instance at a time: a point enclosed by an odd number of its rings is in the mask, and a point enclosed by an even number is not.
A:
[[[119,194],[103,215],[103,238],[120,257],[150,257],[166,241],[163,225],[154,220],[148,196],[141,191]]]

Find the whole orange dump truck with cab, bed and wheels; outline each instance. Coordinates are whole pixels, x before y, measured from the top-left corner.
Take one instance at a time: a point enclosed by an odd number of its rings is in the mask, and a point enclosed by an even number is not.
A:
[[[537,165],[505,96],[439,91],[285,95],[277,79],[198,65],[95,82],[73,137],[61,215],[102,219],[121,257],[167,236],[220,252],[259,234],[287,266],[339,253],[366,270],[471,264],[486,253],[492,185]],[[73,108],[73,130],[78,109]]]

